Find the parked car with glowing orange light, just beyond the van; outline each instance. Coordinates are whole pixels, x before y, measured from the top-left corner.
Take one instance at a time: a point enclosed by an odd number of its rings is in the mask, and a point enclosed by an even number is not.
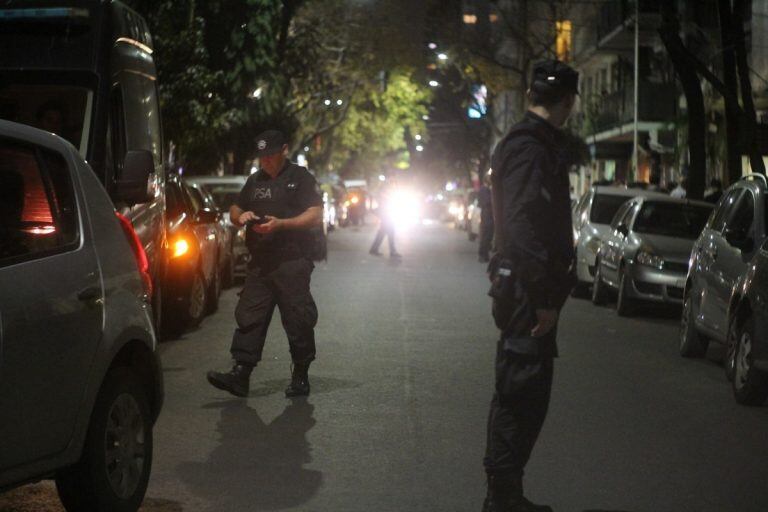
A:
[[[215,311],[221,293],[220,213],[200,203],[178,175],[165,187],[168,269],[165,273],[166,332],[177,335]]]

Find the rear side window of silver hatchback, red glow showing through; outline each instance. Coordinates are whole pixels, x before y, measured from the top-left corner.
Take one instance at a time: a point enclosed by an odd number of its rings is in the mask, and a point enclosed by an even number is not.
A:
[[[74,249],[77,224],[64,159],[0,139],[0,266]]]

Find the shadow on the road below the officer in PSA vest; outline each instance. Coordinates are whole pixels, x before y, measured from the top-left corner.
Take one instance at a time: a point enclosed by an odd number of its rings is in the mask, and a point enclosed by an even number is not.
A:
[[[293,508],[317,493],[322,473],[304,468],[312,461],[307,432],[315,425],[306,399],[292,401],[270,423],[243,400],[206,406],[212,407],[221,408],[219,446],[205,462],[178,466],[179,477],[210,510]]]

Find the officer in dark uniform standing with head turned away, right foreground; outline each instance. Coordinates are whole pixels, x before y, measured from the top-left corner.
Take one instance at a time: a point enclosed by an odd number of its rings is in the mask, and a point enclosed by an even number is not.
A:
[[[524,118],[496,147],[491,166],[497,249],[489,266],[501,339],[488,417],[484,512],[551,512],[523,496],[523,469],[549,407],[557,320],[573,286],[570,158],[560,128],[578,73],[537,64]]]

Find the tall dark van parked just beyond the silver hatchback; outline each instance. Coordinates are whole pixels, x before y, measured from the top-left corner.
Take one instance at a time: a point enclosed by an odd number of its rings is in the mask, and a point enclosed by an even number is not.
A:
[[[135,226],[155,283],[159,326],[167,262],[164,145],[146,21],[116,0],[5,1],[0,76],[0,118],[70,141]],[[153,169],[143,197],[125,194],[135,186],[124,173],[131,153]]]

